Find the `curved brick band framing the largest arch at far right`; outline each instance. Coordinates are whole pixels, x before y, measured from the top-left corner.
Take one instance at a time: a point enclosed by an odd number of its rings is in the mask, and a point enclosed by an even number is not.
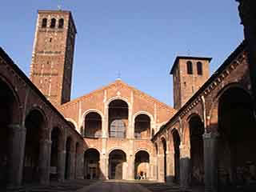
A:
[[[252,98],[252,95],[248,90],[244,88],[240,83],[238,82],[231,82],[224,86],[222,90],[219,90],[216,96],[214,97],[214,102],[212,102],[210,106],[209,115],[207,115],[206,119],[206,131],[207,133],[218,133],[218,103],[219,98],[222,97],[222,94],[226,93],[227,90],[230,88],[239,88],[243,91],[245,91],[248,95],[250,95],[250,98]]]

